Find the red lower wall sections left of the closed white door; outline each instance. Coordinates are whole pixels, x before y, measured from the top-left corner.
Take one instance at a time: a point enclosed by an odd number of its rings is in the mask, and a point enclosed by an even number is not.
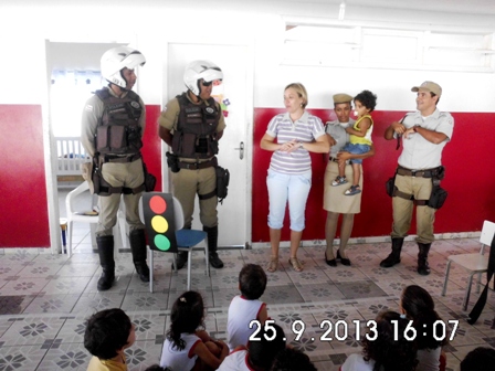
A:
[[[161,190],[160,106],[146,106],[143,156]],[[0,105],[0,247],[50,247],[41,106]]]

